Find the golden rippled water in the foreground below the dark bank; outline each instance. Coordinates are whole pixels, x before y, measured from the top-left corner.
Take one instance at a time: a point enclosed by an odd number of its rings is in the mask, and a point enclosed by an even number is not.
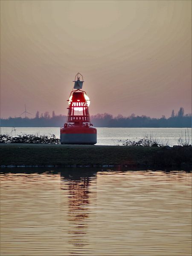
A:
[[[191,255],[190,173],[16,170],[1,174],[1,256]]]

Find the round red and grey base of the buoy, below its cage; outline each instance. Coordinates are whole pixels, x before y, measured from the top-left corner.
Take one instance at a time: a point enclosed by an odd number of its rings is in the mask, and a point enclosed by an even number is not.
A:
[[[89,125],[69,125],[60,129],[61,144],[85,144],[97,143],[97,130]]]

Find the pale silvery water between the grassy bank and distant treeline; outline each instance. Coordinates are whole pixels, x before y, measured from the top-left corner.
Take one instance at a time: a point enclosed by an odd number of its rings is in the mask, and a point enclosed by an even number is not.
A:
[[[178,145],[180,136],[184,136],[187,128],[97,128],[97,144],[96,145],[118,145],[119,140],[143,138],[145,134],[151,134],[168,145]],[[191,128],[188,129],[191,142]],[[55,134],[60,137],[60,130],[57,127],[32,127],[32,128],[12,128],[1,127],[1,134],[19,135],[19,134],[39,134],[49,135]]]

